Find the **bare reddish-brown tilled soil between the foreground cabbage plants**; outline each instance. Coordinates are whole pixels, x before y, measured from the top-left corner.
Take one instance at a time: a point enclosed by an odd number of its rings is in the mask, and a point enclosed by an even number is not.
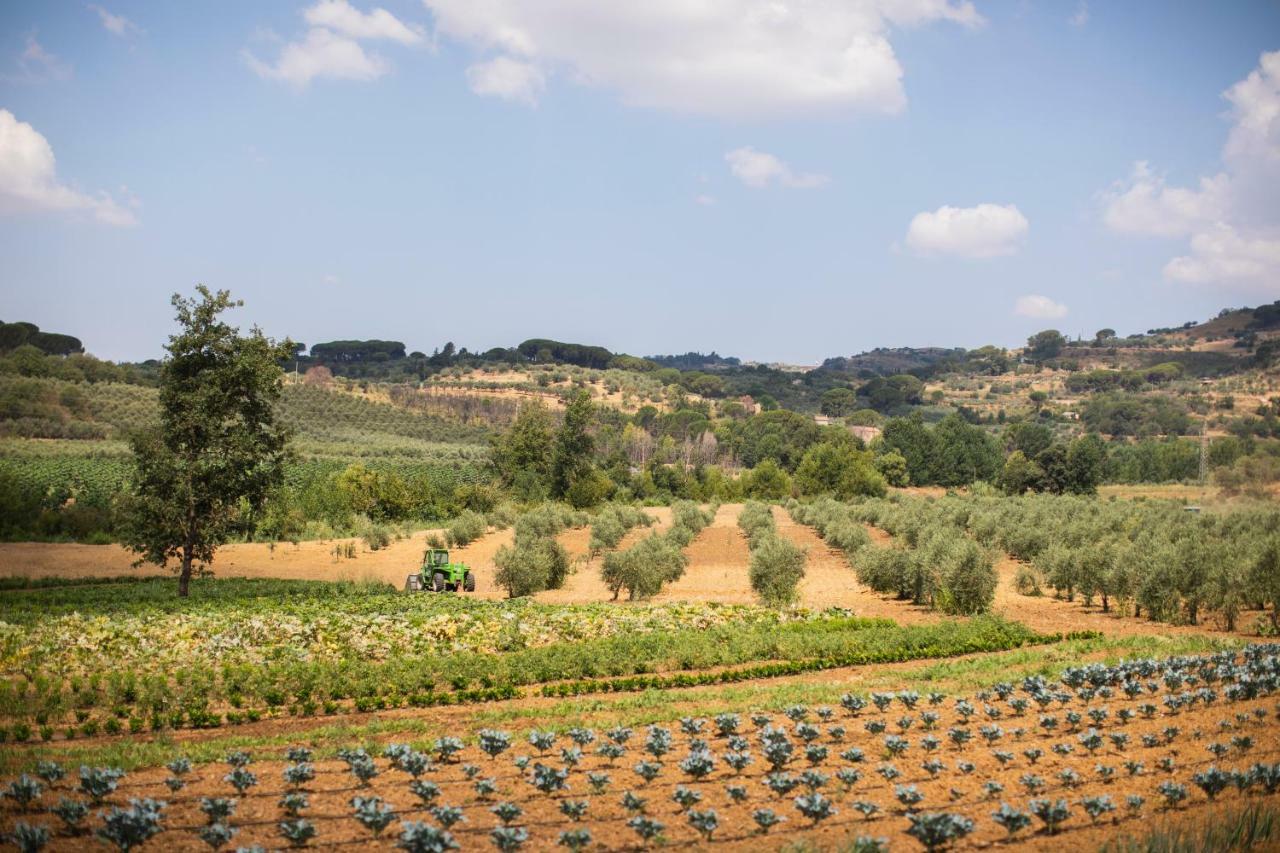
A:
[[[650,784],[645,784],[632,770],[637,761],[653,760],[644,752],[643,744],[646,734],[644,730],[635,731],[626,744],[626,754],[612,766],[600,756],[594,754],[595,747],[604,739],[603,731],[596,733],[596,742],[582,751],[584,758],[570,771],[568,790],[553,795],[535,790],[529,783],[529,774],[521,774],[511,761],[511,756],[531,754],[534,762],[540,761],[557,767],[564,766],[561,747],[570,745],[564,734],[561,734],[556,745],[545,756],[538,756],[536,751],[525,742],[516,742],[508,753],[497,760],[490,760],[481,754],[475,745],[468,745],[460,753],[458,761],[438,765],[428,771],[424,779],[439,785],[439,803],[458,806],[463,809],[466,820],[453,830],[463,849],[492,848],[488,834],[498,821],[489,808],[494,803],[504,800],[515,802],[524,809],[524,815],[516,821],[516,825],[529,830],[530,844],[527,849],[552,849],[558,834],[575,826],[559,811],[561,803],[566,799],[589,800],[588,816],[581,825],[591,831],[595,841],[593,849],[632,849],[637,844],[637,838],[626,825],[628,815],[620,803],[625,790],[632,790],[646,799],[646,813],[664,824],[663,838],[668,845],[705,845],[741,850],[773,849],[785,840],[799,838],[827,848],[860,834],[884,836],[890,840],[892,849],[918,849],[919,845],[905,835],[909,821],[904,807],[895,799],[895,785],[915,785],[924,795],[918,807],[922,811],[946,811],[973,818],[977,825],[975,831],[959,844],[960,848],[965,849],[1002,844],[1005,830],[991,820],[991,813],[1001,802],[1027,808],[1032,795],[1020,781],[1025,774],[1041,776],[1044,789],[1039,797],[1066,799],[1071,815],[1057,835],[1046,835],[1038,829],[1038,825],[1021,831],[1015,843],[1019,849],[1051,849],[1061,848],[1064,844],[1092,849],[1121,831],[1140,833],[1153,818],[1204,824],[1213,818],[1215,809],[1221,806],[1240,804],[1245,799],[1276,803],[1275,795],[1265,795],[1261,790],[1242,794],[1230,789],[1219,795],[1217,804],[1212,804],[1192,784],[1192,775],[1211,765],[1244,770],[1254,762],[1280,761],[1280,726],[1276,724],[1277,708],[1274,697],[1235,703],[1219,699],[1208,707],[1197,706],[1194,710],[1169,715],[1161,704],[1165,692],[1161,689],[1158,694],[1143,694],[1133,701],[1117,693],[1106,699],[1096,697],[1088,703],[1076,698],[1071,698],[1065,706],[1055,702],[1047,713],[1059,720],[1060,729],[1052,734],[1044,733],[1038,725],[1039,712],[1034,703],[1025,716],[1011,716],[1012,710],[992,697],[992,706],[998,706],[1002,710],[1002,716],[991,722],[979,720],[984,715],[984,703],[973,698],[977,713],[968,726],[973,733],[973,742],[964,748],[955,747],[947,736],[948,729],[960,724],[955,706],[948,701],[932,708],[940,716],[933,734],[942,743],[931,753],[927,753],[923,747],[923,738],[927,734],[922,730],[923,712],[931,710],[924,698],[920,699],[915,710],[906,710],[895,702],[886,712],[878,712],[873,706],[868,706],[856,717],[836,708],[829,722],[822,721],[817,710],[812,710],[809,722],[820,730],[814,743],[823,744],[828,749],[828,754],[817,761],[814,766],[829,776],[823,790],[832,798],[836,809],[831,818],[818,826],[813,826],[810,821],[805,820],[794,806],[794,799],[804,790],[803,788],[780,797],[764,786],[767,767],[764,766],[763,749],[756,726],[750,721],[748,713],[742,715],[740,730],[750,743],[749,751],[754,761],[741,775],[735,775],[722,762],[717,762],[716,770],[701,780],[695,781],[681,772],[678,763],[689,751],[690,735],[681,733],[677,721],[671,721],[666,724],[666,727],[672,733],[672,749],[662,758],[662,772]],[[1119,719],[1121,708],[1137,711],[1144,702],[1155,703],[1161,711],[1149,720],[1143,719],[1140,713],[1129,722]],[[1103,707],[1108,711],[1108,716],[1098,729],[1106,743],[1097,751],[1097,754],[1089,756],[1078,736],[1079,729],[1089,725],[1089,719],[1084,716],[1087,710]],[[1075,711],[1084,716],[1079,729],[1068,730],[1070,729],[1065,720],[1068,711]],[[1254,716],[1256,711],[1265,712],[1265,716]],[[1245,720],[1240,721],[1236,715],[1244,715]],[[902,733],[910,745],[904,756],[892,760],[893,766],[901,771],[901,776],[890,783],[877,772],[888,757],[884,748],[886,735],[869,733],[867,724],[873,720],[883,721],[887,726],[886,734],[899,733],[897,721],[904,716],[911,717],[910,727]],[[979,729],[988,722],[998,725],[1002,731],[1002,736],[993,745],[980,743]],[[1229,727],[1224,727],[1224,722]],[[810,763],[803,754],[797,727],[782,715],[773,715],[771,724],[786,726],[796,744],[796,757],[788,765],[787,771],[799,776]],[[832,726],[837,725],[845,726],[847,731],[844,735],[832,731]],[[1019,731],[1019,729],[1024,731]],[[1176,729],[1176,731],[1171,729]],[[1117,747],[1110,742],[1112,734],[1125,734],[1129,736],[1129,742]],[[1155,735],[1160,739],[1160,744],[1147,747],[1142,743],[1142,735]],[[707,740],[708,747],[717,756],[727,751],[726,739],[714,734],[712,721],[707,721],[700,736]],[[1231,739],[1238,736],[1248,736],[1253,744],[1249,747],[1240,743],[1230,745]],[[1211,743],[1228,745],[1228,754],[1222,758],[1215,758],[1207,749]],[[1055,744],[1070,744],[1073,751],[1068,756],[1057,754],[1053,752]],[[417,745],[424,749],[430,748],[430,744]],[[850,747],[861,749],[864,760],[855,763],[841,757],[840,753]],[[1034,765],[1024,754],[1024,751],[1032,748],[1043,752],[1043,756]],[[1009,753],[1007,763],[1001,763],[995,754],[997,751]],[[371,748],[370,752],[375,757],[379,754],[376,748]],[[261,754],[257,761],[250,765],[259,784],[239,798],[236,815],[230,820],[232,826],[239,829],[239,834],[234,839],[236,845],[261,844],[268,849],[283,845],[276,831],[279,821],[284,820],[278,800],[287,790],[282,777],[285,762],[279,760],[282,753],[283,751],[271,756]],[[946,765],[937,779],[931,779],[922,768],[925,756],[937,757]],[[1166,757],[1174,761],[1172,770],[1158,767],[1158,762]],[[1126,760],[1140,761],[1144,767],[1137,775],[1130,775],[1124,767]],[[959,763],[963,761],[972,762],[972,772],[960,771]],[[488,798],[477,795],[474,783],[466,777],[468,763],[477,767],[477,779],[494,780],[495,794]],[[392,845],[398,833],[398,824],[393,824],[383,839],[374,840],[369,831],[351,817],[349,800],[355,795],[378,795],[392,803],[403,818],[435,822],[435,818],[416,802],[415,795],[408,790],[410,776],[407,774],[392,770],[389,762],[381,757],[376,758],[376,765],[379,775],[367,788],[361,788],[356,779],[347,772],[343,762],[321,761],[316,763],[316,779],[305,785],[310,806],[303,812],[319,830],[315,839],[316,847],[352,845],[372,849]],[[1102,780],[1097,771],[1098,765],[1114,768],[1115,775],[1111,781]],[[835,779],[835,770],[838,767],[861,770],[863,776],[854,784],[851,793],[842,792],[841,784]],[[1059,777],[1059,774],[1065,770],[1078,774],[1080,781],[1068,786]],[[206,849],[193,834],[197,827],[205,824],[198,809],[198,798],[234,797],[230,785],[223,781],[228,771],[229,767],[220,763],[197,767],[187,788],[177,794],[164,786],[163,780],[168,775],[164,770],[138,771],[129,774],[108,802],[124,804],[131,797],[164,799],[169,803],[165,812],[168,829],[151,840],[146,849]],[[589,771],[609,774],[609,785],[605,793],[590,792],[586,777]],[[1157,789],[1160,783],[1166,780],[1184,784],[1188,788],[1188,799],[1181,806],[1169,811],[1162,808],[1164,798]],[[984,786],[988,783],[998,783],[1002,790],[995,794],[987,793]],[[726,790],[726,785],[730,784],[746,788],[745,804],[731,802]],[[677,785],[686,785],[703,794],[696,808],[716,809],[719,817],[719,829],[710,844],[700,839],[689,825],[686,816],[680,813],[672,802],[672,793]],[[24,815],[19,815],[14,806],[5,800],[0,825],[8,831],[15,820],[22,818],[28,822],[46,824],[52,829],[59,821],[45,809],[59,797],[78,797],[73,788],[74,783],[64,780],[54,790],[46,792],[36,808]],[[1102,817],[1094,825],[1087,816],[1082,799],[1103,794],[1111,798],[1116,811]],[[1126,807],[1126,797],[1130,794],[1146,798],[1144,804],[1137,811],[1130,811]],[[852,808],[854,802],[876,803],[881,812],[872,818],[864,818]],[[786,822],[776,827],[767,839],[751,831],[754,827],[751,812],[765,807],[786,818]],[[97,817],[90,818],[91,826],[96,827],[99,824]],[[83,836],[58,835],[49,849],[78,850],[83,849],[84,843]]]

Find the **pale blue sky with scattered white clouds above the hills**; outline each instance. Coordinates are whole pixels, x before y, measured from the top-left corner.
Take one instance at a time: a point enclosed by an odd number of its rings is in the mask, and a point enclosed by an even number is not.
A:
[[[0,4],[0,319],[817,364],[1280,298],[1280,3]]]

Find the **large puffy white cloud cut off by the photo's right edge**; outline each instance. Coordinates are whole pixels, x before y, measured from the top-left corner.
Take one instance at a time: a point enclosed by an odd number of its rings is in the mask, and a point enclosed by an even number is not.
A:
[[[1280,280],[1280,51],[1222,92],[1231,128],[1225,169],[1196,187],[1167,186],[1146,163],[1103,193],[1115,232],[1187,240],[1165,264],[1171,282],[1275,287]]]

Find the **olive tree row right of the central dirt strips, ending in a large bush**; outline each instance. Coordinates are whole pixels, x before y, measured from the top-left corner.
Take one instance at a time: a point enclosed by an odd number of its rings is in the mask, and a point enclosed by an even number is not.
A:
[[[996,596],[995,561],[987,548],[964,535],[951,520],[920,517],[914,506],[872,498],[844,505],[792,503],[796,521],[809,524],[855,566],[858,579],[876,592],[947,613],[973,615],[991,608]],[[864,524],[895,534],[893,547],[873,547]]]

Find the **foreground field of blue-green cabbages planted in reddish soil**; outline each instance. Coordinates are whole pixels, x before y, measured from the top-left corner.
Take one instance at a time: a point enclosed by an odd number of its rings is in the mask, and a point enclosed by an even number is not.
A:
[[[1143,820],[1193,798],[1212,803],[1233,790],[1280,792],[1276,716],[1263,703],[1280,690],[1277,654],[1277,646],[1251,646],[1073,666],[1057,679],[1030,675],[961,697],[850,693],[838,708],[795,704],[781,720],[685,717],[678,731],[534,730],[525,749],[509,731],[480,730],[470,744],[443,735],[380,753],[340,749],[337,762],[307,747],[289,748],[283,761],[233,752],[221,767],[179,756],[166,765],[166,793],[155,781],[124,781],[119,768],[84,766],[72,779],[42,761],[0,788],[0,820],[8,840],[33,853],[55,838],[90,835],[120,850],[163,849],[184,835],[215,850],[237,836],[248,840],[237,848],[246,852],[356,843],[353,825],[380,839],[397,821],[394,843],[407,850],[481,838],[499,850],[579,850],[605,836],[617,844],[620,830],[644,847],[677,838],[744,841],[786,822],[840,826],[860,836],[864,850],[888,845],[864,835],[870,827],[901,831],[929,850],[975,833],[989,839],[996,827],[1011,839],[1055,835]],[[1199,727],[1215,716],[1212,729]],[[509,765],[500,762],[508,753]],[[1085,777],[1079,768],[1089,763]],[[188,793],[193,788],[201,793]],[[339,799],[346,808],[334,811]]]

